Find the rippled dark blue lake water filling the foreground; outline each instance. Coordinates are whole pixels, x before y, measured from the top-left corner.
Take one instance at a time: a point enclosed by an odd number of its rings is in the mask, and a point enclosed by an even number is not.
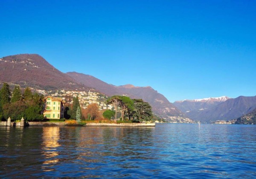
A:
[[[0,178],[256,178],[256,125],[0,127]]]

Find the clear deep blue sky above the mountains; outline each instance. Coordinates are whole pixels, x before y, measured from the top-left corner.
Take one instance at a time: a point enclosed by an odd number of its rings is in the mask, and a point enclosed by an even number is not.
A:
[[[0,57],[151,86],[170,102],[256,95],[255,0],[0,0]]]

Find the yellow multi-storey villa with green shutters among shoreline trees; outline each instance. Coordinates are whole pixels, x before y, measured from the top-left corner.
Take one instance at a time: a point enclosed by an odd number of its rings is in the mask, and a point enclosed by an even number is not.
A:
[[[66,101],[64,101],[62,98],[54,98],[51,96],[47,96],[46,98],[44,98],[44,101],[44,116],[46,118],[64,118],[64,104],[66,103]]]

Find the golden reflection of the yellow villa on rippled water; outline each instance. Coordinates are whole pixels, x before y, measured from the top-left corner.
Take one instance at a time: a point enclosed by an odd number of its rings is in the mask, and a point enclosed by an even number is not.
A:
[[[42,169],[45,171],[51,171],[54,169],[49,169],[48,167],[54,166],[59,159],[59,151],[57,147],[60,146],[58,140],[60,139],[60,128],[59,127],[43,127],[42,134],[42,155],[44,156],[44,162],[42,165]],[[47,165],[51,164],[51,165]]]

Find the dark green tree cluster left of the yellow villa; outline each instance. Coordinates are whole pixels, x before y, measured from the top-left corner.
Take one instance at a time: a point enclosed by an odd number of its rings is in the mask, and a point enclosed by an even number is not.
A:
[[[3,83],[0,90],[0,120],[11,119],[20,120],[24,118],[28,121],[43,120],[44,115],[44,95],[32,93],[29,87],[22,92],[19,86],[15,86],[11,92],[9,84]]]

